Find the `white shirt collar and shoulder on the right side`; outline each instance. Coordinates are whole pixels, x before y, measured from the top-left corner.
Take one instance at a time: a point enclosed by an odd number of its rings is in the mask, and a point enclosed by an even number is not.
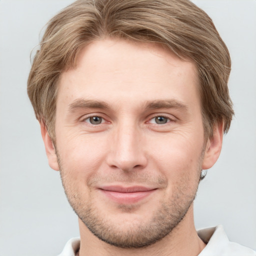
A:
[[[198,256],[256,256],[256,251],[228,240],[221,225],[197,231],[207,244]]]

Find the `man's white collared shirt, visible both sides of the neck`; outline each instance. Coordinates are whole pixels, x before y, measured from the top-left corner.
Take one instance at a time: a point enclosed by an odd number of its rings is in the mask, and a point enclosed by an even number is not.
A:
[[[256,251],[230,242],[221,225],[198,230],[197,234],[207,244],[198,256],[256,256]],[[75,256],[79,246],[80,238],[71,238],[58,256]]]

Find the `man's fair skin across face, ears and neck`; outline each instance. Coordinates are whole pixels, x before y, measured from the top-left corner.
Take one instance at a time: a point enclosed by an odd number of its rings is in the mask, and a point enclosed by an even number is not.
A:
[[[43,123],[41,133],[79,217],[80,256],[198,255],[204,248],[192,202],[201,169],[219,156],[223,124],[205,141],[197,83],[192,62],[123,39],[90,43],[61,74],[54,146]],[[116,199],[109,186],[150,192]]]

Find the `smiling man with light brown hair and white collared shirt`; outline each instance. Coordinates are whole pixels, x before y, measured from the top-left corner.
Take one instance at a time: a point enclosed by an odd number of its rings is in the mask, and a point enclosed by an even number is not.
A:
[[[61,255],[256,255],[193,200],[232,104],[230,57],[187,0],[78,0],[53,17],[28,78],[80,239]]]

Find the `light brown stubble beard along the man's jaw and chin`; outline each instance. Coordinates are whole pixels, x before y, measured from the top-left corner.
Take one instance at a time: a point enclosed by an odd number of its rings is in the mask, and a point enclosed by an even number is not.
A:
[[[202,151],[203,153],[204,150]],[[128,224],[126,223],[125,228],[122,228],[120,223],[115,222],[114,219],[109,220],[107,218],[107,212],[100,212],[93,205],[92,200],[84,202],[75,184],[72,184],[66,175],[68,171],[63,168],[58,156],[62,185],[69,204],[76,215],[97,238],[120,248],[142,248],[171,234],[184,218],[195,198],[200,181],[201,161],[202,157],[198,161],[197,184],[192,191],[186,193],[186,182],[189,180],[179,180],[177,182],[178,185],[173,189],[172,197],[168,198],[168,201],[161,202],[160,207],[151,214],[149,221],[141,224],[138,224],[137,221],[130,221]],[[133,205],[120,205],[119,208],[127,213],[132,211]],[[148,210],[150,211],[151,209]]]

